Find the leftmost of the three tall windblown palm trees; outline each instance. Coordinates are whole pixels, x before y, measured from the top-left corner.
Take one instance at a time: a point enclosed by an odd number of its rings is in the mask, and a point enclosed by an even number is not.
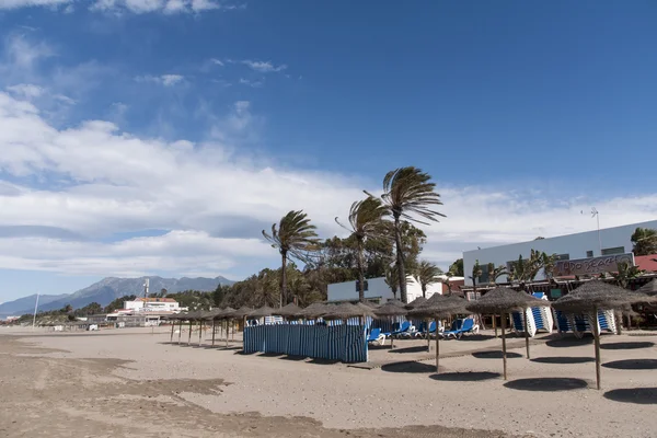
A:
[[[279,306],[287,304],[287,276],[286,264],[288,256],[291,255],[300,261],[307,261],[306,253],[315,251],[320,240],[315,232],[316,227],[310,223],[308,215],[303,210],[291,210],[285,215],[276,228],[272,224],[272,234],[263,230],[263,235],[272,243],[272,247],[278,249],[281,260],[280,269],[280,298]]]

